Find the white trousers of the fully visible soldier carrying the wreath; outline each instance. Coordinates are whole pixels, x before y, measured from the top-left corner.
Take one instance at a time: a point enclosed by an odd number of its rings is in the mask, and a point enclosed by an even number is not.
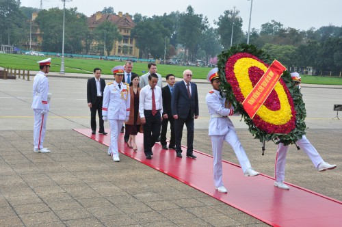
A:
[[[230,129],[226,135],[211,135],[210,138],[213,149],[213,178],[215,187],[224,185],[222,181],[222,148],[224,141],[233,148],[242,171],[245,172],[248,168],[251,168],[250,161],[235,131]]]

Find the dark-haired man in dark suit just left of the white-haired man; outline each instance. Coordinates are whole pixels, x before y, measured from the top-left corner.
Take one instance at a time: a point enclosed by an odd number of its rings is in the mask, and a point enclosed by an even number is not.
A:
[[[165,150],[168,150],[168,146],[166,146],[166,132],[168,131],[168,122],[170,122],[171,129],[169,149],[176,150],[176,146],[174,145],[174,118],[172,116],[171,110],[171,98],[173,92],[174,78],[175,77],[173,74],[166,75],[166,82],[168,83],[168,85],[161,88],[161,95],[163,97],[163,122],[161,122],[160,144]]]

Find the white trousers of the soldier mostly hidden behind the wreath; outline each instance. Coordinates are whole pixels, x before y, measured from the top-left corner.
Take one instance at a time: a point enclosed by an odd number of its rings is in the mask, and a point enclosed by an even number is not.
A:
[[[317,150],[313,147],[313,145],[306,139],[306,136],[303,135],[302,139],[295,142],[300,150],[306,153],[308,157],[315,165],[315,168],[318,167],[319,163],[323,161]],[[284,181],[285,180],[285,164],[286,164],[286,155],[287,150],[289,150],[289,146],[284,146],[284,144],[278,144],[278,150],[276,155],[276,166],[275,166],[275,178],[276,181]]]

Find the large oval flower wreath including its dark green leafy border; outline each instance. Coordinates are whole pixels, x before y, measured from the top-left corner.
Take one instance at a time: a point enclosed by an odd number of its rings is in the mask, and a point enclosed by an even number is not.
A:
[[[253,119],[242,102],[273,59],[253,45],[239,44],[218,56],[222,90],[244,118],[250,133],[261,142],[293,144],[305,134],[305,105],[300,90],[286,70]]]

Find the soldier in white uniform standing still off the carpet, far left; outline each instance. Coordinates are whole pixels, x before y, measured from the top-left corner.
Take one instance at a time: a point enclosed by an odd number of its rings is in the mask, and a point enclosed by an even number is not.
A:
[[[50,150],[43,147],[47,115],[50,109],[48,101],[49,79],[51,58],[44,59],[39,63],[40,71],[34,77],[33,98],[31,108],[34,109],[34,152],[49,153]]]

